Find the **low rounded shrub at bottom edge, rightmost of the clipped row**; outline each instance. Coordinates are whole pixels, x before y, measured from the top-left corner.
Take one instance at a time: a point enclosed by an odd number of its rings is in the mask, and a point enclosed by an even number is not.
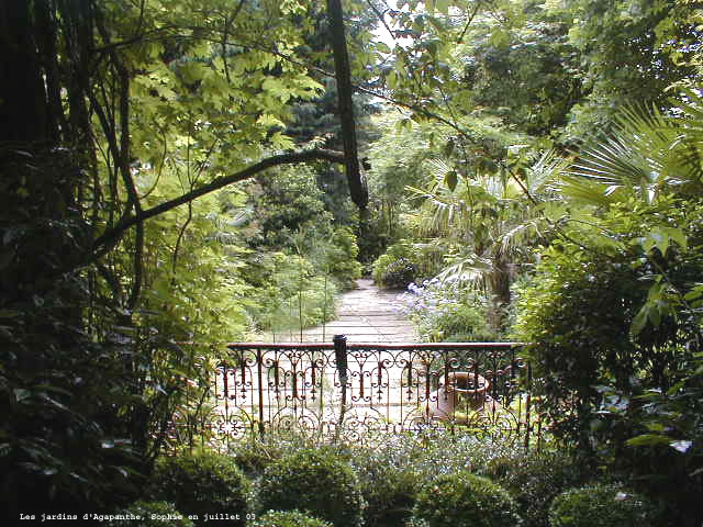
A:
[[[647,527],[654,507],[618,485],[572,489],[557,496],[549,509],[550,527]]]

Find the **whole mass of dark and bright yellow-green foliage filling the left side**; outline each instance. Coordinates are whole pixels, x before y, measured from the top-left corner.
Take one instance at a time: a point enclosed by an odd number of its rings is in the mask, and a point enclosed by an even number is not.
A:
[[[188,195],[292,146],[289,101],[322,88],[293,65],[315,33],[305,8],[2,5],[21,21],[3,43],[31,57],[11,59],[16,79],[51,77],[36,98],[19,81],[0,97],[36,117],[0,134],[1,490],[16,506],[25,484],[46,511],[124,500],[169,419],[203,416],[179,405],[207,401],[207,383],[186,386],[212,354],[175,343],[242,338],[249,287],[209,217],[217,204]]]

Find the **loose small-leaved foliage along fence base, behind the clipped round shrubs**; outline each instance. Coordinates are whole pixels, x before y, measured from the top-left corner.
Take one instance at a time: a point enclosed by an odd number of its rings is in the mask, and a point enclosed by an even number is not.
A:
[[[458,470],[486,470],[492,459],[506,457],[513,448],[509,442],[481,441],[471,435],[461,434],[460,430],[455,430],[454,434],[426,434],[421,437],[384,434],[369,446],[328,445],[313,437],[276,433],[236,444],[232,455],[236,463],[252,478],[261,476],[269,467],[269,470],[278,471],[272,467],[282,460],[310,457],[309,452],[320,451],[323,452],[323,457],[348,460],[367,504],[362,515],[365,525],[403,527],[411,518],[415,496],[424,482],[431,481],[437,474],[454,473]],[[265,479],[260,481],[265,485]],[[259,493],[268,492],[266,489],[261,489]],[[300,491],[303,486],[297,489]],[[295,493],[290,492],[292,508],[295,506]],[[269,502],[271,507],[276,506],[274,500]],[[301,504],[297,507],[304,508]],[[323,517],[314,512],[313,515]]]

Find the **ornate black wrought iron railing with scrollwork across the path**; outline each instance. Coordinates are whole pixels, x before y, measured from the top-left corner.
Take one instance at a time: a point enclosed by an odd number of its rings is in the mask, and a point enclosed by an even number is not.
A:
[[[366,442],[460,427],[527,447],[540,426],[515,343],[230,344],[200,426],[226,444],[270,430]]]

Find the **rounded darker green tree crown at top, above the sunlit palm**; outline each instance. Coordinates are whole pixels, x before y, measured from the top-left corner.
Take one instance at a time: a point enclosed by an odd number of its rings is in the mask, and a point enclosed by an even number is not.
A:
[[[534,136],[556,135],[584,90],[581,55],[566,38],[572,21],[549,5],[502,3],[502,23],[482,16],[471,24],[456,74],[466,89],[464,104]]]

